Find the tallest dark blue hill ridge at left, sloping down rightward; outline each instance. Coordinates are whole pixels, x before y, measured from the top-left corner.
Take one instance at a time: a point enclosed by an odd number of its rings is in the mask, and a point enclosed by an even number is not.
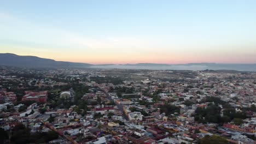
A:
[[[61,62],[36,56],[18,56],[13,53],[0,53],[0,65],[29,68],[85,68],[92,64]]]

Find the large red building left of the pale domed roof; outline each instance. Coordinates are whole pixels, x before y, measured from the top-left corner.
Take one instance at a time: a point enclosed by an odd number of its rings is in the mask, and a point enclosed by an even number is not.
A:
[[[39,103],[46,103],[47,96],[48,96],[47,91],[41,91],[41,92],[25,91],[25,95],[22,97],[22,101],[30,100],[30,101],[36,101]]]

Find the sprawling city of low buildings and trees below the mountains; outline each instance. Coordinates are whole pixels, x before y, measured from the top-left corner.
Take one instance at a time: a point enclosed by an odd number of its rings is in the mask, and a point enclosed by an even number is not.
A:
[[[11,143],[255,143],[256,73],[1,67]]]

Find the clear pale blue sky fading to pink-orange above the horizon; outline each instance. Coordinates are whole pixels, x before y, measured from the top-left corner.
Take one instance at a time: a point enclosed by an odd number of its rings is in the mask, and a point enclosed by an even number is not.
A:
[[[91,64],[256,63],[256,1],[1,1],[0,53]]]

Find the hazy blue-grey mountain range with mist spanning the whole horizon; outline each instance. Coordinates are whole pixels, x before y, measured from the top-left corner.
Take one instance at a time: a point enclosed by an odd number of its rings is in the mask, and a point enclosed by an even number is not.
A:
[[[98,68],[98,69],[159,69],[159,70],[240,70],[256,71],[256,64],[188,63],[188,64],[89,64],[55,61],[36,56],[19,56],[0,53],[0,65],[27,68]]]

